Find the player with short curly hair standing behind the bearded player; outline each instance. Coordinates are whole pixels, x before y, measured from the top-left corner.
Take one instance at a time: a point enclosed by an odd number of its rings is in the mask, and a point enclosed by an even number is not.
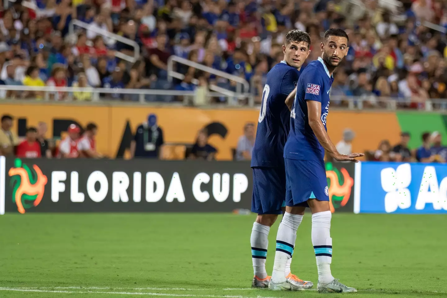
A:
[[[253,147],[252,211],[257,213],[250,238],[253,261],[253,287],[265,288],[270,276],[266,272],[266,257],[270,227],[282,214],[286,198],[286,173],[283,150],[290,130],[290,110],[285,101],[295,89],[299,71],[310,50],[309,34],[292,30],[283,45],[284,60],[267,74],[262,92],[261,111]],[[293,97],[291,97],[293,100]],[[285,205],[284,205],[285,206]],[[293,248],[291,248],[293,250]],[[310,288],[310,281],[303,281],[290,272],[291,260],[287,261],[283,277],[291,284]]]

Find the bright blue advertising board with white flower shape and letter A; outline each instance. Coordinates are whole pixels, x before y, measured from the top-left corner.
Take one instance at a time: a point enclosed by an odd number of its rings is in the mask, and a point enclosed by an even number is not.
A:
[[[355,213],[447,213],[446,164],[361,162],[355,177]]]

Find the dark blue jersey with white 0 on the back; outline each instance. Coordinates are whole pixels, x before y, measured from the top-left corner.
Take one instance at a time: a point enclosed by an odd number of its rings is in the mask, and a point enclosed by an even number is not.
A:
[[[282,61],[267,74],[251,167],[284,167],[283,151],[290,130],[290,111],[285,101],[298,83],[299,73]]]

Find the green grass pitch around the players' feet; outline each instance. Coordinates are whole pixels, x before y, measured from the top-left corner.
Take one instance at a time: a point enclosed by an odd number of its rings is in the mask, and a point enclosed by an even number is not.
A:
[[[0,297],[328,295],[249,289],[254,218],[6,214],[0,216]],[[278,223],[269,235],[269,274]],[[332,273],[358,289],[354,297],[447,297],[445,227],[445,215],[334,214]],[[298,230],[292,273],[313,281],[316,289],[310,214]]]

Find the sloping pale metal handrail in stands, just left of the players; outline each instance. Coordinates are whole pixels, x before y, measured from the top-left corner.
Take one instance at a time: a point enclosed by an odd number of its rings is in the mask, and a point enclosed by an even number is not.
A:
[[[234,75],[230,75],[227,72],[224,71],[219,71],[217,69],[214,69],[212,67],[207,67],[205,65],[202,65],[200,63],[185,59],[185,58],[181,58],[179,56],[175,56],[172,55],[169,57],[168,59],[168,80],[169,82],[172,82],[173,78],[177,78],[179,80],[183,80],[185,78],[185,76],[183,74],[181,74],[180,72],[174,71],[174,62],[176,63],[181,63],[181,64],[185,64],[187,66],[190,67],[194,67],[196,69],[199,69],[201,71],[206,71],[208,73],[211,73],[215,76],[219,76],[228,80],[232,80],[235,81],[236,84],[236,92],[233,92],[231,90],[210,84],[208,87],[210,88],[210,90],[213,90],[215,92],[219,92],[225,96],[228,97],[232,97],[233,99],[244,99],[247,98],[249,101],[249,106],[253,106],[254,105],[254,99],[253,99],[253,95],[250,93],[250,84],[249,82],[247,82],[247,80],[242,79],[238,76],[234,76]],[[193,84],[198,84],[198,80],[197,79],[192,79],[191,83]],[[244,88],[243,92],[241,90],[241,87]],[[228,101],[228,105],[237,105],[237,100],[234,101]]]

